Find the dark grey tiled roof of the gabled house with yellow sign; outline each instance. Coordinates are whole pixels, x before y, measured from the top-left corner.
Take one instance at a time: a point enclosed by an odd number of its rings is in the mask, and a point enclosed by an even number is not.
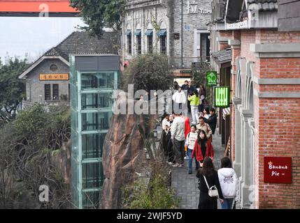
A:
[[[73,32],[43,56],[62,56],[69,61],[70,54],[117,54],[118,40],[117,32],[103,32],[101,38],[92,37],[88,32]]]

